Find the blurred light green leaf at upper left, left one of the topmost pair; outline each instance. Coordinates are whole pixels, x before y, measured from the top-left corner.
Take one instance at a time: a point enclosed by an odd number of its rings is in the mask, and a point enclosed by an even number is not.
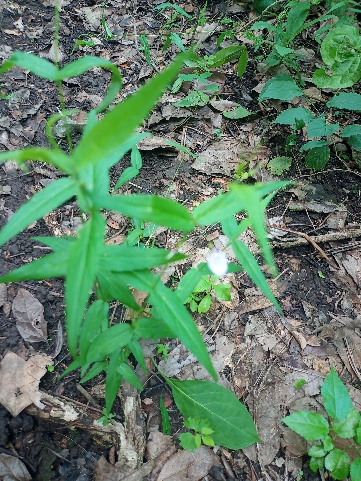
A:
[[[13,52],[12,56],[5,60],[0,67],[0,75],[4,74],[14,66],[20,67],[23,70],[29,70],[32,74],[46,78],[48,80],[56,81],[59,69],[49,60],[21,51]]]

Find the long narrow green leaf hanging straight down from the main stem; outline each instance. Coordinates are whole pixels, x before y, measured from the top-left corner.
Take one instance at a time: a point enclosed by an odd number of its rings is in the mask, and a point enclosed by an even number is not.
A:
[[[77,352],[77,340],[84,309],[88,303],[101,257],[104,230],[103,216],[100,212],[94,212],[90,220],[79,230],[77,241],[70,247],[65,282],[66,330],[69,350],[74,357]]]

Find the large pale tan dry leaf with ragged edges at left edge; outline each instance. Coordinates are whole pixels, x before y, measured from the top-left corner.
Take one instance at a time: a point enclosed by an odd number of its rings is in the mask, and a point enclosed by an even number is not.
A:
[[[52,358],[45,354],[36,354],[27,361],[11,351],[5,354],[0,365],[0,403],[13,416],[32,403],[43,409],[39,380],[52,364]]]

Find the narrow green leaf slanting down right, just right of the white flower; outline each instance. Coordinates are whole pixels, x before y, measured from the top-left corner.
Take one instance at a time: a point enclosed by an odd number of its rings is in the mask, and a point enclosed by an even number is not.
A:
[[[277,299],[274,297],[270,286],[268,285],[268,282],[258,265],[258,262],[253,257],[248,247],[241,241],[233,241],[232,248],[237,256],[237,259],[244,267],[248,276],[253,280],[256,286],[259,287],[259,289],[264,293],[264,295],[271,301],[272,304],[277,307],[277,309],[282,314],[282,309],[278,304]]]

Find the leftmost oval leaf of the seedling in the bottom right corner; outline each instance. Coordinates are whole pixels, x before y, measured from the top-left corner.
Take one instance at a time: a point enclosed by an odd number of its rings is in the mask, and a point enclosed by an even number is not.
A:
[[[328,422],[320,414],[311,411],[297,411],[282,419],[284,424],[296,431],[307,441],[317,441],[329,433]]]

